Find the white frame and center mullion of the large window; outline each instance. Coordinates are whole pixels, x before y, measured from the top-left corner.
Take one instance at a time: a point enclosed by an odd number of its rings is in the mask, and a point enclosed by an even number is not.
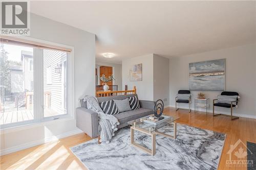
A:
[[[6,36],[5,36],[6,37]],[[11,39],[11,38],[10,38]],[[32,37],[27,36],[19,36],[20,40],[24,41],[33,41],[41,44],[47,44],[49,46],[58,46],[62,48],[69,48],[71,49],[71,52],[67,52],[67,114],[63,115],[56,115],[56,116],[50,116],[50,117],[44,117],[44,62],[43,62],[43,53],[42,48],[40,47],[33,47],[33,71],[34,71],[34,119],[32,120],[25,120],[23,122],[16,122],[16,123],[10,123],[1,125],[1,131],[5,129],[10,128],[19,128],[20,126],[29,126],[29,125],[37,125],[44,122],[56,122],[58,120],[61,121],[61,119],[74,119],[75,118],[75,79],[74,79],[74,47],[64,44],[59,44],[55,42],[40,40]],[[22,42],[21,41],[21,42]],[[5,43],[5,42],[1,42]],[[18,44],[17,44],[18,45]],[[56,50],[56,48],[53,50]],[[34,56],[40,56],[40,57],[34,57]],[[34,67],[35,66],[35,67]],[[34,69],[37,68],[37,69]],[[58,120],[56,120],[58,119]]]

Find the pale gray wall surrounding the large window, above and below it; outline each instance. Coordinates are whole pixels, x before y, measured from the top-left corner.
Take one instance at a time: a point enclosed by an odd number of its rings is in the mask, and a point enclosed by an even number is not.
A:
[[[32,38],[74,47],[75,105],[85,94],[95,94],[95,35],[31,14]],[[1,154],[7,154],[81,132],[73,118],[1,130]]]

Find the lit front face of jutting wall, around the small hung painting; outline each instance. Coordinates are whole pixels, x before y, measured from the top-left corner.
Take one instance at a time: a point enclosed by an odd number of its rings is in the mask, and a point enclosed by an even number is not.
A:
[[[132,65],[142,63],[142,81],[130,81],[130,69]],[[138,98],[140,100],[154,100],[154,83],[153,83],[153,54],[140,57],[134,57],[122,61],[122,84],[128,85],[128,89],[137,88]],[[124,88],[124,87],[123,87]]]

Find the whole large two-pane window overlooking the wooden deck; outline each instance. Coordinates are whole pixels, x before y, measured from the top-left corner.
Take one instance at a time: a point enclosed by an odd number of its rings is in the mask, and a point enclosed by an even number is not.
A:
[[[71,53],[2,39],[0,53],[1,127],[71,114]]]

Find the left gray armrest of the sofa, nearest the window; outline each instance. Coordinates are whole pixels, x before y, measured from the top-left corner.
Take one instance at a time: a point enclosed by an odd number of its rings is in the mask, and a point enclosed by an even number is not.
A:
[[[91,138],[98,136],[98,113],[89,109],[76,108],[76,126]]]

